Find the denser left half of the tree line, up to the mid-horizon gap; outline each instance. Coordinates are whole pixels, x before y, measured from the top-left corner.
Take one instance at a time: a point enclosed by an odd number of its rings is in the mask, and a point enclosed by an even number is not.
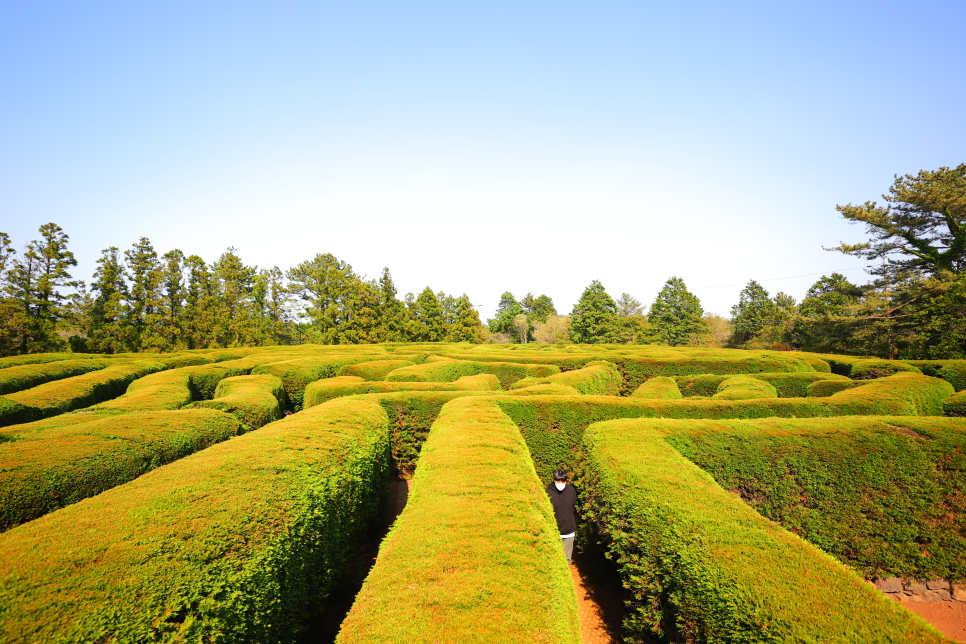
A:
[[[69,237],[44,224],[22,252],[0,233],[0,355],[163,352],[279,344],[481,342],[469,297],[397,297],[389,269],[366,279],[331,254],[294,268],[249,266],[234,248],[208,264],[158,254],[142,237],[101,252],[89,285],[75,279]]]

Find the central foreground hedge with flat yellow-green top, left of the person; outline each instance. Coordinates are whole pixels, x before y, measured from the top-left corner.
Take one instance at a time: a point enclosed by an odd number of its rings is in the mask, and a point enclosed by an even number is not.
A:
[[[406,509],[336,641],[580,641],[550,502],[519,432],[491,401],[443,408]]]

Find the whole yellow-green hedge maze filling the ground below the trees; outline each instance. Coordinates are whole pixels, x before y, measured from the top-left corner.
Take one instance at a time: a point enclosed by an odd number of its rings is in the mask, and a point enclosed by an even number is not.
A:
[[[562,467],[627,642],[946,642],[903,602],[966,601],[964,396],[626,345],[0,359],[0,641],[313,641],[377,535],[337,642],[576,644]]]

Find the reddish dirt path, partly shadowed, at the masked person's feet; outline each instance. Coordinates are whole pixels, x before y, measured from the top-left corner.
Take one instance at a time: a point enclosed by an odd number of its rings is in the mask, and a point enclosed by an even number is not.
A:
[[[570,567],[577,586],[582,644],[619,644],[624,601],[620,578],[596,553],[574,553]]]

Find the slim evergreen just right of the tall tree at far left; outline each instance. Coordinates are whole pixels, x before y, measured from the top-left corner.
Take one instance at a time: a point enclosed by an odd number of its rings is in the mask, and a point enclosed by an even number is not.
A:
[[[130,348],[127,318],[127,275],[121,251],[111,246],[101,251],[91,284],[88,347],[95,353],[121,353]]]

